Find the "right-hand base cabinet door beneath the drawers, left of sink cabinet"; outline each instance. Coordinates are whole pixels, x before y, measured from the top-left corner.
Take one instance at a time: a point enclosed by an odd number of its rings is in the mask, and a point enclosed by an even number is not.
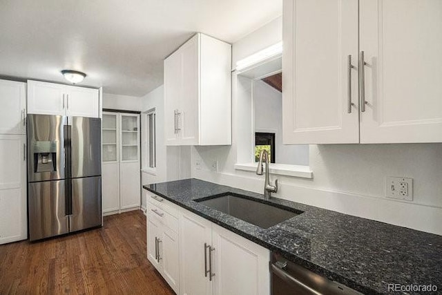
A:
[[[163,277],[172,287],[173,291],[178,294],[180,289],[178,235],[168,227],[163,227],[160,249],[162,254],[160,258],[162,260]]]

